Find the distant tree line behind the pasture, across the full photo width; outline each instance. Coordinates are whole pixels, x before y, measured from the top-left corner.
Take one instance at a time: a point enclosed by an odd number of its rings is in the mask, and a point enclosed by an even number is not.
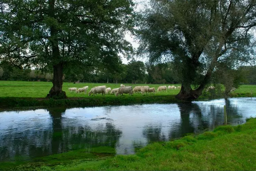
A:
[[[82,66],[80,66],[83,68]],[[67,69],[64,72],[64,82],[87,83],[131,83],[131,84],[177,84],[179,73],[174,70],[171,62],[149,65],[142,61],[132,60],[127,65],[116,64],[114,70],[99,67],[80,67]],[[232,75],[232,77],[230,76]],[[229,79],[228,79],[229,78]],[[53,73],[42,72],[37,69],[12,66],[9,63],[0,63],[0,80],[11,81],[52,81]],[[211,83],[221,83],[225,87],[239,86],[240,84],[256,84],[256,67],[242,66],[236,70],[221,69],[214,72]]]

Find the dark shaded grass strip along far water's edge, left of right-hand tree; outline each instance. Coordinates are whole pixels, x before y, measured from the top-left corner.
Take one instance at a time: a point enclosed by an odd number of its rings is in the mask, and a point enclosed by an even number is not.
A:
[[[129,104],[145,104],[145,103],[178,103],[184,102],[178,100],[174,95],[161,96],[121,96],[121,97],[78,97],[67,99],[47,99],[47,98],[29,98],[29,97],[0,97],[0,107],[57,107],[57,106],[105,106],[105,105],[129,105]]]

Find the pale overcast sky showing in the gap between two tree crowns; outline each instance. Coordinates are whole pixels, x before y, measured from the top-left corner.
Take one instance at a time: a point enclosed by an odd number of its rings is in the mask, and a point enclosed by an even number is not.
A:
[[[138,3],[136,11],[141,10],[145,4],[145,2],[147,2],[148,0],[133,0],[135,3]],[[135,42],[134,37],[132,35],[126,34],[125,35],[125,39],[128,40],[129,42],[131,42],[131,44],[133,45],[134,48],[138,48],[139,44],[137,42]],[[121,55],[122,56],[122,55]],[[145,58],[135,58],[135,60],[141,60],[143,62],[146,61]],[[127,60],[126,58],[122,57],[122,62],[127,64],[130,60]]]

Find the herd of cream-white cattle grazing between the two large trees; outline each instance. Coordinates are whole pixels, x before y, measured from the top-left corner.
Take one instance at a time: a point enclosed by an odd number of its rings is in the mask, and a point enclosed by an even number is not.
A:
[[[168,89],[180,89],[181,87],[178,86],[168,86]],[[72,87],[69,88],[69,90],[72,91],[76,91],[76,93],[80,93],[80,92],[84,92],[85,94],[87,94],[87,90],[89,89],[88,86],[85,86],[83,88],[76,88],[76,87]],[[167,86],[159,86],[157,88],[157,91],[166,91],[167,92]],[[93,87],[92,89],[90,89],[88,95],[90,96],[91,94],[97,95],[97,94],[115,94],[115,96],[118,95],[123,95],[123,94],[129,94],[132,95],[133,93],[136,92],[141,92],[142,94],[144,93],[152,93],[152,92],[156,92],[155,87],[150,88],[149,86],[135,86],[134,88],[132,88],[132,86],[125,86],[124,84],[121,84],[119,88],[113,88],[111,89],[110,87],[106,87],[104,86],[96,86]],[[102,96],[101,95],[101,96]]]

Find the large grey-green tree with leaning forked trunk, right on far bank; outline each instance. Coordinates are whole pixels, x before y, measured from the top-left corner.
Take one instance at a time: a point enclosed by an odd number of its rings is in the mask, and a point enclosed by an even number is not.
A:
[[[150,62],[172,61],[182,83],[176,98],[198,98],[220,63],[237,66],[253,58],[255,0],[151,0],[149,4],[138,23],[138,52]]]

